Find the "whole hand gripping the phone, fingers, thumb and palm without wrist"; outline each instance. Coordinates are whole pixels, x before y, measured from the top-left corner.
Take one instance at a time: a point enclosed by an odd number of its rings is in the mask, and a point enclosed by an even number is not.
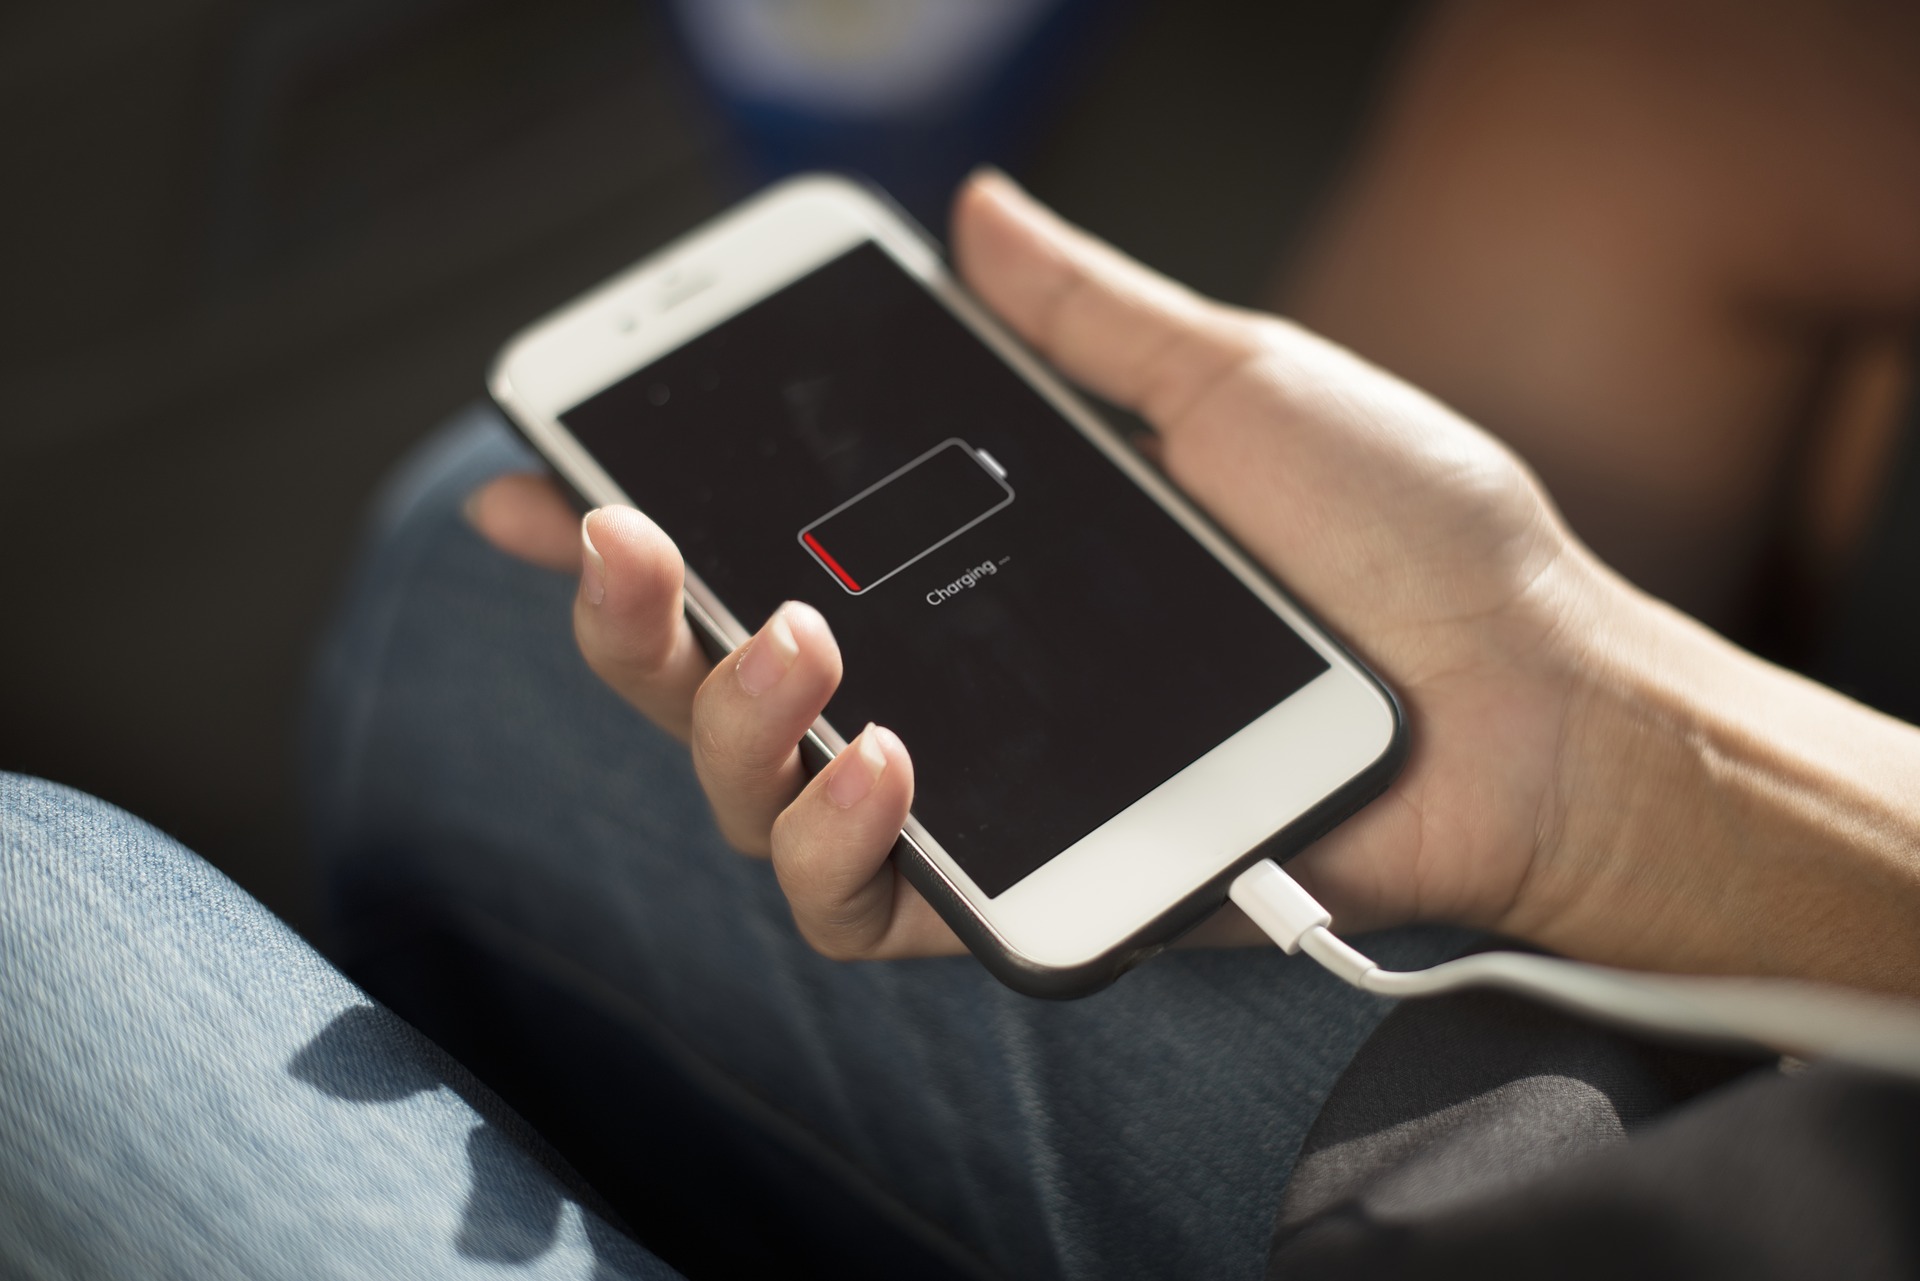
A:
[[[1171,476],[1405,697],[1404,778],[1298,874],[1348,928],[1498,920],[1551,824],[1569,686],[1555,624],[1586,567],[1526,471],[1411,388],[1154,277],[1004,179],[962,192],[954,246],[987,305],[1071,378],[1139,409]],[[722,832],[772,853],[808,939],[833,955],[958,947],[885,862],[912,799],[899,739],[868,730],[862,751],[804,780],[795,743],[839,680],[818,613],[783,607],[708,670],[680,615],[680,557],[643,515],[593,513],[582,547],[582,526],[530,476],[493,482],[470,511],[509,551],[555,568],[584,555],[582,653],[691,736]],[[874,791],[837,805],[868,768]]]

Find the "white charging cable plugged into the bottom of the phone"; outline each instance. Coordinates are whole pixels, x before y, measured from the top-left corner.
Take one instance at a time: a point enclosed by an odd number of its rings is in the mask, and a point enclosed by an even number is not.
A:
[[[1332,914],[1271,858],[1242,872],[1229,893],[1288,956],[1306,953],[1380,997],[1500,987],[1638,1031],[1920,1079],[1920,1006],[1907,1001],[1795,979],[1640,974],[1528,953],[1475,953],[1430,970],[1382,970],[1334,937]]]

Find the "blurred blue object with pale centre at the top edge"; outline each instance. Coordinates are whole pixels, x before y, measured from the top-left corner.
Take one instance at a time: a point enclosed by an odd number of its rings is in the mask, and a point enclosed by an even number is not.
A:
[[[756,184],[874,179],[929,227],[979,163],[1018,165],[1125,0],[672,0]]]

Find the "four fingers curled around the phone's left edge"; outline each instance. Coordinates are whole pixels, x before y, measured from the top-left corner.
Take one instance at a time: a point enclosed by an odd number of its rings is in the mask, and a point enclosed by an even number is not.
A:
[[[680,551],[641,513],[603,507],[580,520],[541,476],[501,476],[467,511],[501,547],[580,570],[580,653],[655,724],[691,741],[720,832],[741,853],[774,858],[793,920],[818,951],[845,958],[962,951],[887,860],[914,795],[900,739],[866,726],[806,778],[797,743],[841,678],[826,618],[789,601],[710,665],[682,613]]]

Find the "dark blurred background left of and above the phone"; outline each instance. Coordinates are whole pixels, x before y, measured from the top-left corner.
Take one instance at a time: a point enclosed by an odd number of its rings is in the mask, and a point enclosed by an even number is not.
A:
[[[1069,8],[977,157],[1256,300],[1413,6]],[[0,104],[0,768],[309,928],[300,703],[378,478],[509,332],[806,140],[645,0],[15,0]],[[900,181],[927,213],[956,175]]]

